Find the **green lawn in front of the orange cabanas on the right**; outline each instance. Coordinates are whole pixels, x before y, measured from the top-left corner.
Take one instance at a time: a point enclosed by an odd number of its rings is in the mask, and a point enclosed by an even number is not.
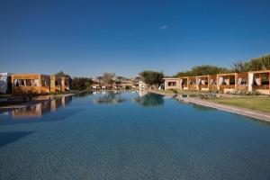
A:
[[[270,97],[252,96],[252,97],[240,97],[240,98],[214,98],[208,99],[208,101],[215,103],[223,103],[228,105],[234,105],[251,110],[257,110],[260,112],[270,112]]]

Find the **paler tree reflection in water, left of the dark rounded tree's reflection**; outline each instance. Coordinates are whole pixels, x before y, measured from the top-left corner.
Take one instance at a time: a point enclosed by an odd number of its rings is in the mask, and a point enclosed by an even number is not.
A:
[[[109,92],[107,94],[98,94],[96,98],[94,98],[94,103],[123,103],[126,99],[121,97],[121,93],[113,93]]]

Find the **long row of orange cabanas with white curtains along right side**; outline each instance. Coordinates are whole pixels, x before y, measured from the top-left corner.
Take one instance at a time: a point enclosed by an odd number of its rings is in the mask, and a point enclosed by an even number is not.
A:
[[[220,90],[223,92],[258,91],[270,94],[270,70],[204,76],[164,78],[165,89],[190,91]]]

